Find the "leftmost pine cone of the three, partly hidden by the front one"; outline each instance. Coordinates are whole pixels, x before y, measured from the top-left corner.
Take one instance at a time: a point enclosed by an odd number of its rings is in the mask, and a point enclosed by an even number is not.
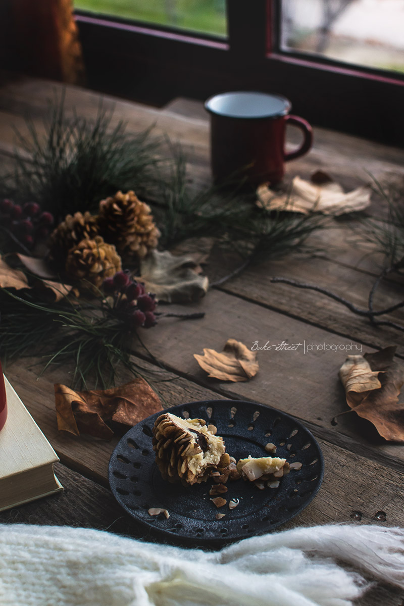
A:
[[[70,248],[77,246],[82,240],[92,240],[98,232],[97,218],[88,211],[85,211],[84,215],[75,213],[73,216],[65,216],[64,221],[53,230],[48,240],[50,262],[58,268],[64,268]]]

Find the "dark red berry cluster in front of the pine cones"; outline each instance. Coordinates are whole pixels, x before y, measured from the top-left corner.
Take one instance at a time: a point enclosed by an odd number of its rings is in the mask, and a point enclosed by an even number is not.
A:
[[[157,324],[153,311],[156,296],[145,291],[144,284],[130,278],[125,271],[118,271],[111,278],[105,278],[102,287],[106,295],[113,296],[113,308],[125,319],[130,330],[151,328]]]

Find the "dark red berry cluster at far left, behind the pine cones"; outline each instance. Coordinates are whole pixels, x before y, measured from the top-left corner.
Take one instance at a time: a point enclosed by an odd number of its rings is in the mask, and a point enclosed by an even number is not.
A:
[[[53,221],[53,215],[41,212],[36,202],[27,202],[24,206],[7,198],[0,202],[0,225],[26,248],[33,248],[38,240],[47,238]]]

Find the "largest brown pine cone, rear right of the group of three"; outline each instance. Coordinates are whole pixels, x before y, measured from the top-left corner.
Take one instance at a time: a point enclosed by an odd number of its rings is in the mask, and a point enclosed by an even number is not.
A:
[[[99,203],[99,228],[106,242],[116,246],[122,258],[144,258],[156,248],[160,232],[150,207],[134,191],[118,191]]]

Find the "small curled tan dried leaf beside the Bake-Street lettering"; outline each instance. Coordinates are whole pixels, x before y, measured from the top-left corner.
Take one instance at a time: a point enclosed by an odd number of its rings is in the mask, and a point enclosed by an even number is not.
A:
[[[256,352],[236,339],[228,339],[224,350],[204,348],[204,355],[194,353],[194,358],[210,377],[220,381],[248,381],[258,372]]]

